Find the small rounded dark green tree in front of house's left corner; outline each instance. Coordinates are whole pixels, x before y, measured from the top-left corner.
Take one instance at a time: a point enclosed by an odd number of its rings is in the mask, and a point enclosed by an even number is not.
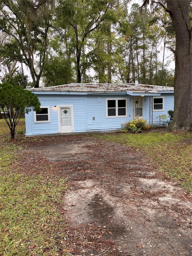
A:
[[[29,113],[32,108],[40,111],[38,97],[22,86],[2,83],[0,87],[0,108],[4,112],[4,119],[9,126],[11,139],[15,137],[15,128],[23,113]]]

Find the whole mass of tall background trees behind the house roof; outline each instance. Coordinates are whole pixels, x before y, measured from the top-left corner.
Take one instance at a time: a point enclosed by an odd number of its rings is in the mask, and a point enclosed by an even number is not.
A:
[[[174,50],[175,41],[162,8],[148,10],[144,22],[139,5],[127,0],[0,5],[0,78],[11,77],[19,66],[25,73],[27,66],[34,87],[73,81],[172,85],[168,64],[174,57],[167,60],[165,52]]]

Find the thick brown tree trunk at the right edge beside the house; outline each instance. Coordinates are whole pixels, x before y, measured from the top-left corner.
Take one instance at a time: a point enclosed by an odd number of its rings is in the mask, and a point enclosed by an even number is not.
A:
[[[190,0],[169,0],[167,12],[170,14],[176,34],[176,63],[174,80],[174,116],[172,129],[191,130],[192,116],[192,58]]]

